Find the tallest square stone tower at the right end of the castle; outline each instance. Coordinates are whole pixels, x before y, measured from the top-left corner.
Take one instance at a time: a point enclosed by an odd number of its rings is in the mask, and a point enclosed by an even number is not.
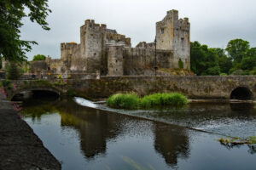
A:
[[[190,69],[190,24],[189,19],[178,19],[177,10],[167,11],[166,17],[156,23],[156,48],[172,50],[171,68],[178,68],[178,61],[183,61],[183,68]]]

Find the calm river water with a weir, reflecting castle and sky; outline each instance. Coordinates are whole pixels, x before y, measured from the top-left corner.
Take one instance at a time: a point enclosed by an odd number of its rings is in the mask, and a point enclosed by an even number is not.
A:
[[[123,111],[81,98],[32,99],[23,119],[62,169],[255,169],[256,147],[217,139],[256,136],[253,105]]]

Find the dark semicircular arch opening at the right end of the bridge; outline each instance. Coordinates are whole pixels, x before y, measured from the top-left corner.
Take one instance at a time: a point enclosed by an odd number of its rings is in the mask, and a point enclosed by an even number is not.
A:
[[[230,94],[230,99],[253,100],[253,93],[249,88],[238,87],[233,89]]]

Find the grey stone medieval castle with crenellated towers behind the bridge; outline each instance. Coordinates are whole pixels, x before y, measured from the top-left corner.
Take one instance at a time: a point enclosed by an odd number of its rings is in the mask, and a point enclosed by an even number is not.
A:
[[[106,25],[85,20],[80,27],[80,43],[61,43],[61,59],[33,61],[32,71],[100,73],[102,76],[154,74],[154,68],[190,69],[189,19],[178,19],[177,10],[167,11],[156,23],[156,42],[139,42],[131,48],[131,38]],[[156,48],[155,48],[156,45]],[[156,57],[155,57],[156,52]]]

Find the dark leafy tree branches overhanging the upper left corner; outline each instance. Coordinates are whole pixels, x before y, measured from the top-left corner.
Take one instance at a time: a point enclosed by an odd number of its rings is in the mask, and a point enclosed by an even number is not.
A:
[[[49,30],[45,21],[51,12],[48,7],[48,0],[0,1],[0,57],[15,62],[26,60],[26,52],[37,42],[20,39],[20,27],[23,25],[21,21],[24,17],[29,17],[44,30]],[[28,9],[27,13],[25,8]]]

